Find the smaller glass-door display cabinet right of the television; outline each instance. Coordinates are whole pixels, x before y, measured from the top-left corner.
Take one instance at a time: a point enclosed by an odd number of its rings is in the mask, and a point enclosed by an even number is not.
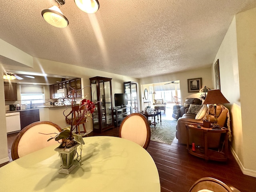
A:
[[[124,93],[127,94],[127,106],[130,107],[130,113],[138,113],[140,111],[138,103],[138,83],[132,81],[124,82]]]

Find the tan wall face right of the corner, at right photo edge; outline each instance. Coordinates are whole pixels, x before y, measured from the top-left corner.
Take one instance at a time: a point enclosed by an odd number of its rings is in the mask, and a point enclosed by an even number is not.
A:
[[[252,113],[256,108],[256,8],[236,15],[242,137],[245,171],[254,170],[256,176],[256,131]]]

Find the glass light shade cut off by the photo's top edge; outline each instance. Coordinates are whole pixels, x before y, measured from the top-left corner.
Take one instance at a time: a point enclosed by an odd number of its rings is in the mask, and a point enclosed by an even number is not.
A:
[[[98,0],[74,0],[76,6],[86,13],[95,13],[100,8]]]

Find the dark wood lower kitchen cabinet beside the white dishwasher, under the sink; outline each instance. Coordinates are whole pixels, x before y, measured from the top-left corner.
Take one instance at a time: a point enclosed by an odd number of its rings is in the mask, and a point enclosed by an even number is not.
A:
[[[40,121],[39,109],[21,110],[20,111],[20,129],[22,130],[26,126]]]

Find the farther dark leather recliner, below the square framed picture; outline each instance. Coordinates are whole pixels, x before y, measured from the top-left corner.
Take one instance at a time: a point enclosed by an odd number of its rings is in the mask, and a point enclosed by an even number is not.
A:
[[[185,110],[189,108],[190,104],[201,105],[202,100],[198,98],[186,98],[184,105],[174,105],[172,108],[172,117],[178,119],[185,114]]]

